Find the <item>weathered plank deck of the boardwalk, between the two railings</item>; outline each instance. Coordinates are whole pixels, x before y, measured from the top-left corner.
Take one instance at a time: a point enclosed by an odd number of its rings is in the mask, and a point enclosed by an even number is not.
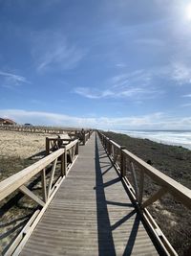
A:
[[[158,255],[95,134],[20,255]]]

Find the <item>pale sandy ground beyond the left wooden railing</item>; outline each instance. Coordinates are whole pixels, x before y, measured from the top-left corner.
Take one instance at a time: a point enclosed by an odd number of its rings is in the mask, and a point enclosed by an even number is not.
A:
[[[69,137],[68,134],[65,136]],[[0,181],[43,157],[46,137],[57,135],[0,130]],[[42,153],[35,156],[39,152]]]

